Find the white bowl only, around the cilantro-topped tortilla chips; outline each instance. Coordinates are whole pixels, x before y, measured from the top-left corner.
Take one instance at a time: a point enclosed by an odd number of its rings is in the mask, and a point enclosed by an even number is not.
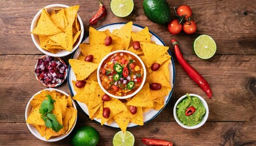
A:
[[[68,94],[64,91],[61,91],[59,89],[53,89],[53,88],[48,88],[48,89],[44,89],[44,90],[49,90],[49,91],[57,91],[57,92],[61,92],[62,94],[65,94],[66,96],[68,96]],[[35,95],[39,94],[41,91],[37,92]],[[34,95],[34,96],[35,96]],[[29,114],[30,114],[30,111],[32,109],[32,106],[30,104],[30,101],[34,98],[34,96],[31,97],[31,99],[29,100],[29,102],[27,103],[27,106],[26,106],[26,111],[25,111],[25,119],[27,120],[27,117],[29,117]],[[76,109],[76,103],[74,103],[74,101],[72,100],[72,103],[73,103],[73,107]],[[74,122],[74,125],[73,127],[71,128],[71,130],[68,131],[68,133],[66,134],[63,134],[61,136],[55,136],[55,137],[51,137],[50,139],[46,140],[45,137],[42,137],[40,135],[40,133],[37,131],[37,129],[32,125],[32,124],[29,124],[27,123],[27,127],[29,128],[30,132],[35,136],[37,137],[38,139],[42,140],[42,141],[47,141],[47,142],[55,142],[55,141],[60,141],[61,139],[64,139],[66,136],[68,136],[71,131],[74,129],[75,125],[76,125],[76,121],[77,121],[77,116],[76,116],[76,120]]]

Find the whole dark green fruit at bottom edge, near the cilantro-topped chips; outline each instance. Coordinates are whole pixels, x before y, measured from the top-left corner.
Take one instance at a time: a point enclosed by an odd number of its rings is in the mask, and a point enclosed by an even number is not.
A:
[[[72,139],[73,145],[95,146],[99,142],[99,132],[93,127],[81,127]]]

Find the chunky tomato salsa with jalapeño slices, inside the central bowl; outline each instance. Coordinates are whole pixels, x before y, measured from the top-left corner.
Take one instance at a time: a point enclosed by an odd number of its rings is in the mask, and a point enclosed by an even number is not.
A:
[[[103,88],[114,96],[132,94],[140,87],[144,77],[140,61],[122,52],[108,57],[99,72]]]

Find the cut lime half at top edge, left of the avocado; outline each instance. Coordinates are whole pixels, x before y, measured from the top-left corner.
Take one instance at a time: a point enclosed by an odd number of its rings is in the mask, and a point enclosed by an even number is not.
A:
[[[110,8],[116,16],[125,17],[132,13],[133,5],[132,0],[112,0]]]

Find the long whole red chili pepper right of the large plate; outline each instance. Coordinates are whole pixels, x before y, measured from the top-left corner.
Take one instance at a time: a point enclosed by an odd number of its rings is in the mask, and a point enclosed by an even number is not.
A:
[[[188,76],[196,82],[197,85],[201,87],[201,89],[207,94],[209,99],[212,97],[212,89],[210,88],[207,81],[202,77],[199,72],[197,72],[187,61],[184,59],[182,52],[180,52],[179,44],[177,40],[171,40],[172,45],[174,46],[174,52],[176,55],[177,60],[179,61],[180,65],[182,66],[183,70],[188,74]]]

